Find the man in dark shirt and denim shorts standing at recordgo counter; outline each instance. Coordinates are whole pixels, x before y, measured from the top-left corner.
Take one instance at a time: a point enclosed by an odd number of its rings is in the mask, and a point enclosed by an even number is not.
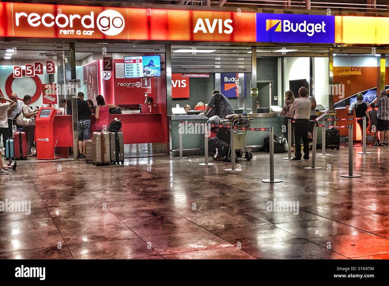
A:
[[[92,111],[84,100],[84,93],[77,93],[78,158],[85,158],[85,143],[91,136]]]

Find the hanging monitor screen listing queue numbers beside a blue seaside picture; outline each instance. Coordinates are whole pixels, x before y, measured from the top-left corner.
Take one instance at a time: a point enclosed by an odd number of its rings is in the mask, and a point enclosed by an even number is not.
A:
[[[124,76],[136,77],[160,77],[161,56],[125,56]]]

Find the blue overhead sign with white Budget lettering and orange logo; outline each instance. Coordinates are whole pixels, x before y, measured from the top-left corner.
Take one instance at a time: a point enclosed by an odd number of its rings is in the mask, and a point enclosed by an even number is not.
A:
[[[335,16],[257,13],[257,42],[334,43]]]

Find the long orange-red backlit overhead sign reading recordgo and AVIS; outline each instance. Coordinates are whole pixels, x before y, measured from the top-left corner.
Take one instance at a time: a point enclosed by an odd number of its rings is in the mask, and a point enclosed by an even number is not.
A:
[[[0,13],[4,37],[256,41],[255,13],[24,3]]]

